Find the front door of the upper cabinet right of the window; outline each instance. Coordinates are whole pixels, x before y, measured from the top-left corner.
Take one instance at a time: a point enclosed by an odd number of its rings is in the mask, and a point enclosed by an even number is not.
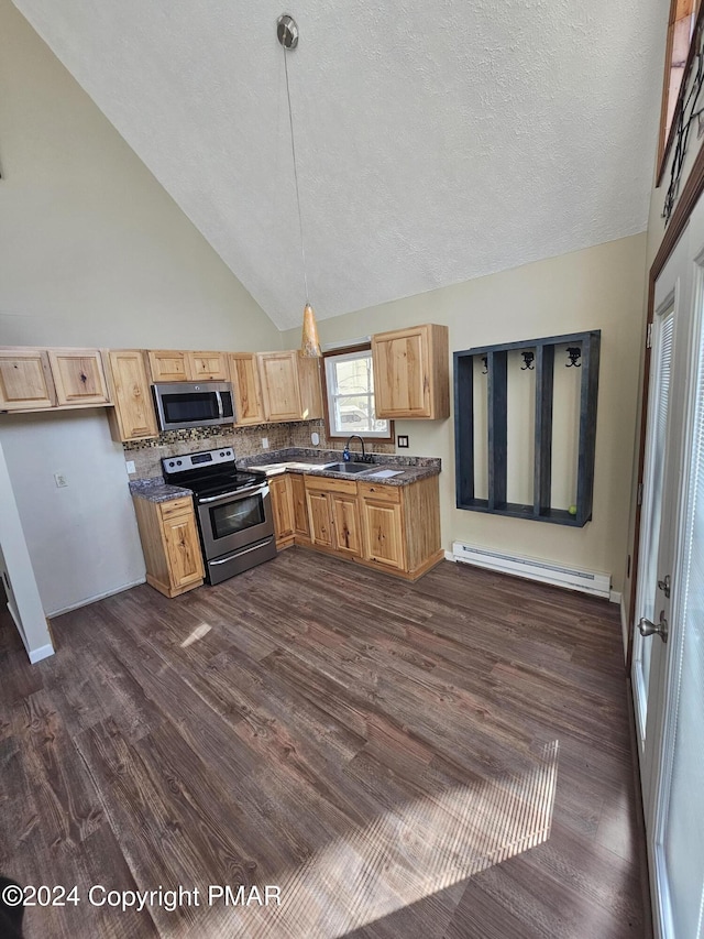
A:
[[[429,417],[430,374],[426,327],[372,337],[377,417]]]

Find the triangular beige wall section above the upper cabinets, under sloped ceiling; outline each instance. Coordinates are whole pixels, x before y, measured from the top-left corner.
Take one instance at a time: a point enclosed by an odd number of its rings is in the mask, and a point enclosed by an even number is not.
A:
[[[10,0],[0,0],[0,345],[280,348]]]

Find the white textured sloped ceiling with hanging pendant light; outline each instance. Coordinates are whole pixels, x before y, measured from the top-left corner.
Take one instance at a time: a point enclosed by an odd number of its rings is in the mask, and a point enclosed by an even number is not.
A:
[[[282,329],[282,12],[318,318],[646,228],[667,0],[14,2]]]

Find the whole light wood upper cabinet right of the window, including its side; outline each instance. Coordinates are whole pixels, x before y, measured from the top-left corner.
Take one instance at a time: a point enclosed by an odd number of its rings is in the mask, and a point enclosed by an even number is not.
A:
[[[450,416],[448,327],[436,324],[372,336],[376,416]]]

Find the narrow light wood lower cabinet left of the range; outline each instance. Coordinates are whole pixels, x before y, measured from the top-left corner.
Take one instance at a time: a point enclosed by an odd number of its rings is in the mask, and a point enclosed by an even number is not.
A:
[[[204,581],[202,556],[190,496],[152,502],[133,495],[146,561],[146,582],[177,597]]]

